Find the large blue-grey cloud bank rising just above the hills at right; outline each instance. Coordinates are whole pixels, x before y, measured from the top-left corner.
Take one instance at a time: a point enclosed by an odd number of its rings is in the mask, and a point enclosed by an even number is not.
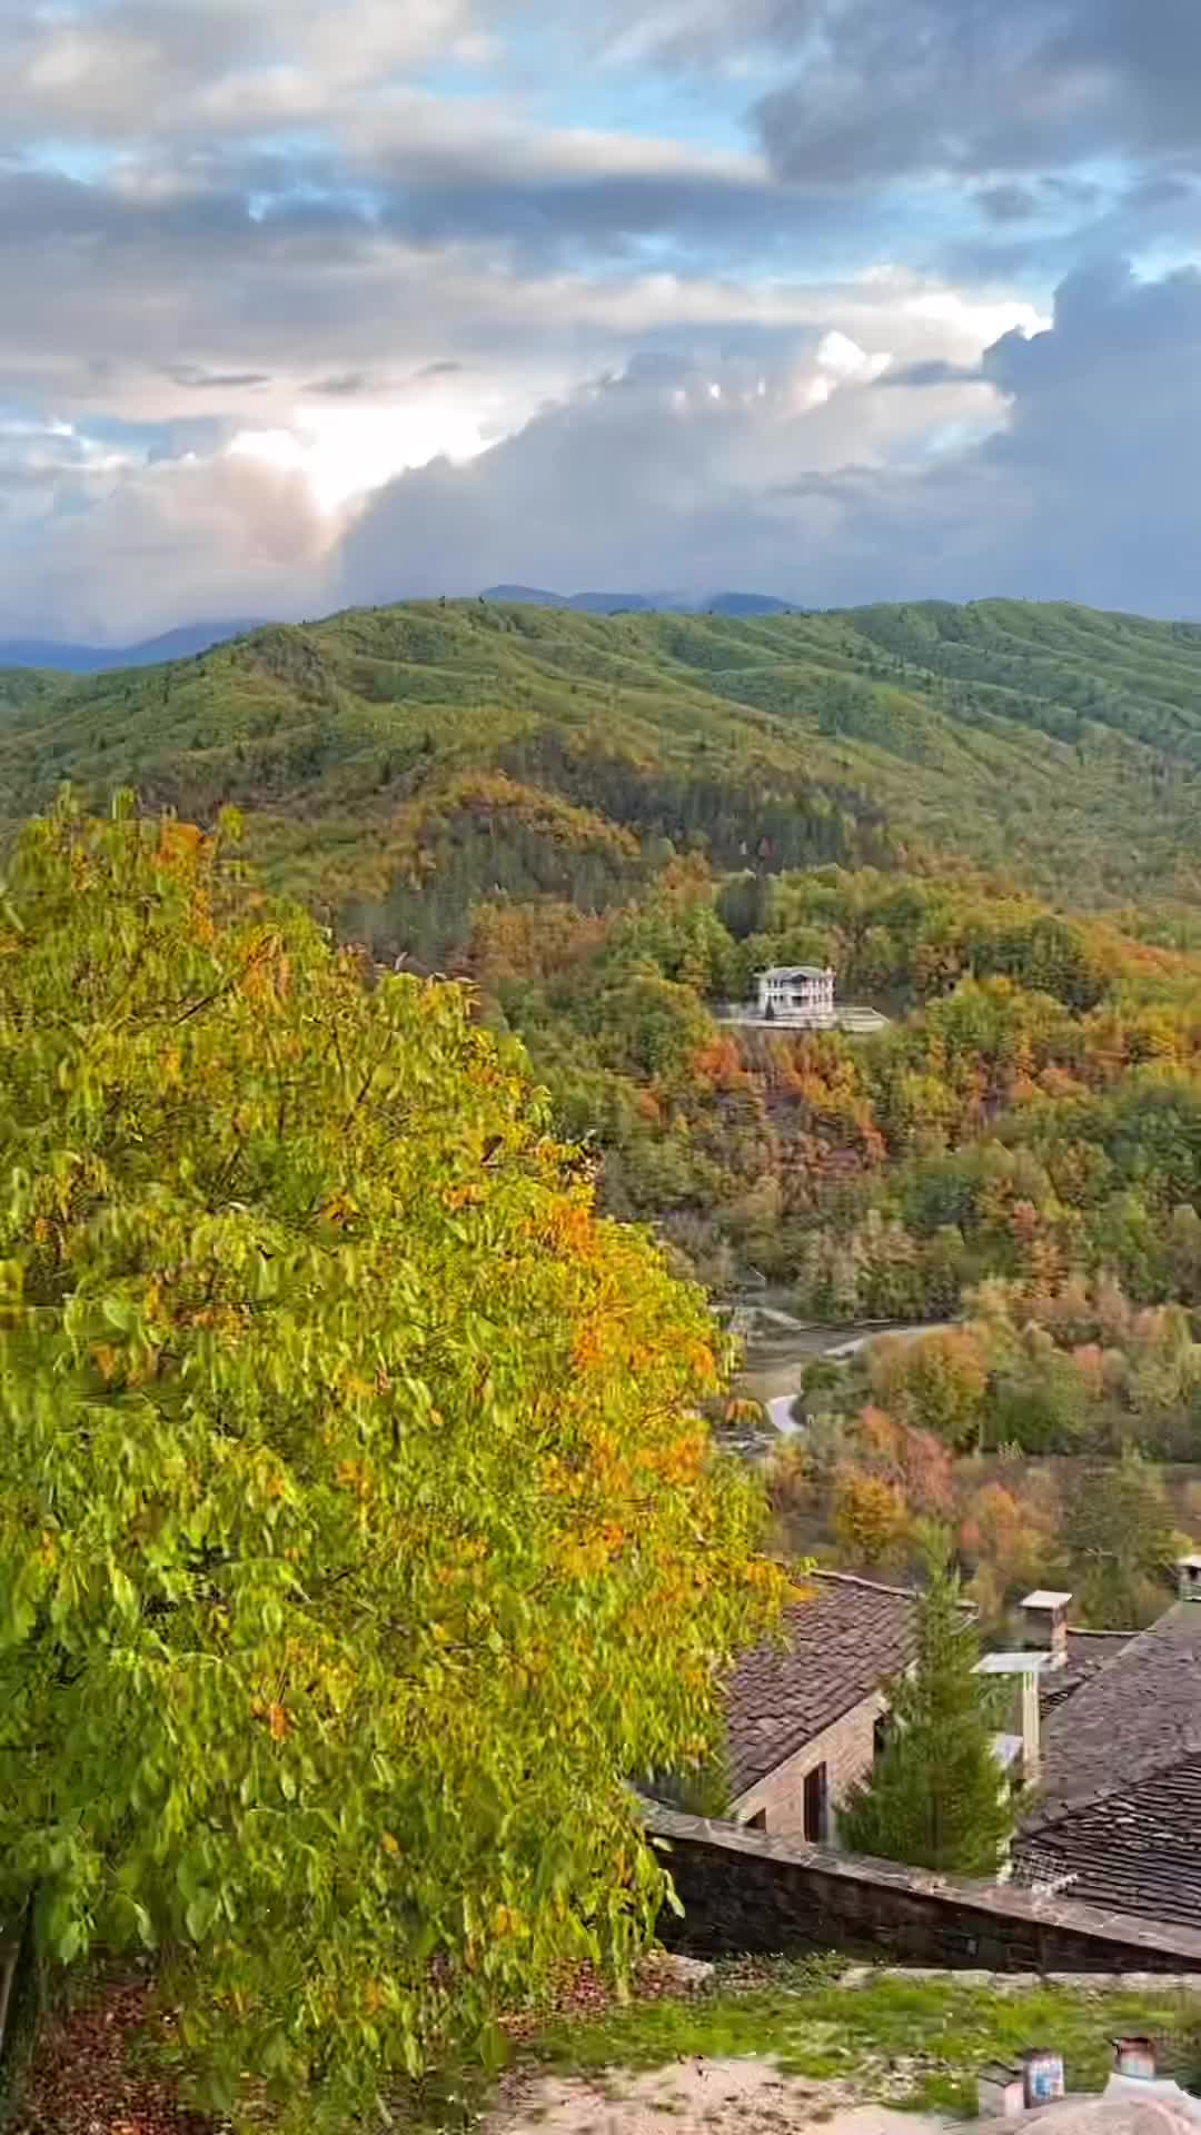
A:
[[[872,371],[829,337],[765,393],[735,369],[720,401],[703,376],[635,367],[464,470],[389,485],[348,529],[342,591],[526,579],[1201,615],[1201,275],[1081,273],[1054,325],[985,352],[981,384]]]

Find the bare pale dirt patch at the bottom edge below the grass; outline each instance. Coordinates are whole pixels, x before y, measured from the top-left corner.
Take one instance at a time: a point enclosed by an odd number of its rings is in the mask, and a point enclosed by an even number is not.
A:
[[[842,2084],[782,2075],[771,2060],[677,2060],[645,2075],[524,2082],[485,2122],[485,2135],[945,2135],[932,2114],[851,2105]]]

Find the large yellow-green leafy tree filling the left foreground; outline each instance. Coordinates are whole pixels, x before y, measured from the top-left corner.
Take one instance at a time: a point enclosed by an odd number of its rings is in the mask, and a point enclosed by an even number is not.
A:
[[[368,974],[370,978],[370,974]],[[175,822],[0,903],[0,1860],[156,1949],[216,2099],[312,2126],[628,1964],[626,1778],[776,1573],[699,1294],[453,986],[374,989]]]

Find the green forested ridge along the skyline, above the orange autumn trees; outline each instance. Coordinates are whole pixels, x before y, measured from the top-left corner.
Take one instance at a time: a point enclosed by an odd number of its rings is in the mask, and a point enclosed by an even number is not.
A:
[[[0,779],[13,813],[62,779],[233,801],[282,880],[383,937],[421,818],[464,895],[494,860],[517,892],[571,888],[547,850],[579,839],[603,901],[667,839],[718,869],[955,856],[1073,903],[1192,901],[1201,630],[1019,602],[359,611],[88,681],[9,670]]]

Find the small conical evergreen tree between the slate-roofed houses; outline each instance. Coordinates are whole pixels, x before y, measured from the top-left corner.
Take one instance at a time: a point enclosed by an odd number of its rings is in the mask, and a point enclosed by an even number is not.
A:
[[[919,1603],[917,1665],[889,1693],[885,1749],[838,1819],[844,1847],[915,1868],[996,1875],[1013,1808],[977,1661],[960,1580],[940,1569]]]

